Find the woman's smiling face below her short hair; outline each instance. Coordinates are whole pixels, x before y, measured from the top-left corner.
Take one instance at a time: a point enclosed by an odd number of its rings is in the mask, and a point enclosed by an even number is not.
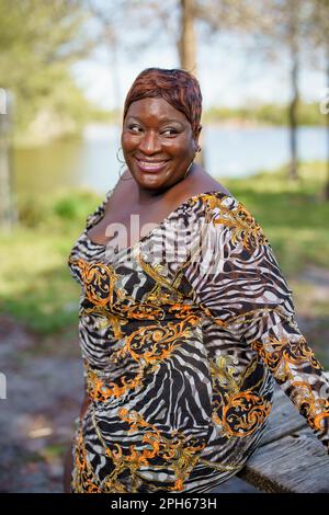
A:
[[[133,102],[121,145],[127,167],[145,190],[162,190],[183,179],[197,150],[192,126],[183,113],[161,98]]]

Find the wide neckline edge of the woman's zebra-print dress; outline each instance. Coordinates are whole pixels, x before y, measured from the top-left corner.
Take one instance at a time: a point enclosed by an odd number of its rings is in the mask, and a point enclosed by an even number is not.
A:
[[[113,190],[110,190],[107,192],[107,194],[105,195],[105,198],[103,201],[103,203],[101,204],[101,206],[99,207],[99,211],[100,211],[100,216],[97,217],[97,220],[95,220],[95,224],[99,224],[102,218],[104,217],[104,214],[105,214],[105,205],[109,201],[111,201],[111,192],[113,192]],[[138,241],[136,241],[136,243],[134,243],[133,245],[129,245],[129,247],[126,247],[122,250],[120,250],[116,254],[121,254],[123,252],[133,252],[134,249],[136,249],[137,247],[139,247],[141,243],[144,243],[144,241],[150,239],[152,237],[152,234],[158,231],[159,229],[161,229],[166,224],[168,224],[168,221],[178,213],[180,211],[181,209],[183,209],[185,206],[188,206],[189,204],[193,203],[195,199],[198,199],[200,197],[204,196],[204,195],[215,195],[215,194],[219,194],[220,197],[228,197],[228,198],[234,198],[232,195],[229,195],[225,192],[222,192],[219,190],[211,190],[211,191],[207,191],[207,192],[201,192],[201,193],[196,193],[195,195],[191,195],[189,198],[186,198],[185,201],[183,201],[181,204],[179,204],[174,209],[172,209],[159,224],[157,224],[156,227],[154,227],[154,229],[151,229],[147,234],[145,234],[143,238],[140,238]],[[107,242],[106,243],[97,243],[95,241],[91,240],[91,238],[88,236],[88,230],[93,227],[95,225],[94,222],[92,222],[91,225],[88,225],[84,229],[84,237],[86,239],[89,241],[90,244],[92,244],[93,247],[95,248],[99,248],[99,249],[105,249],[107,247]]]

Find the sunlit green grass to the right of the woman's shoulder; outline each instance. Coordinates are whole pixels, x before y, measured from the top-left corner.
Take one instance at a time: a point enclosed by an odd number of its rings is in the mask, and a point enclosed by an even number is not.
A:
[[[304,163],[299,174],[297,183],[286,179],[284,168],[222,181],[253,214],[288,276],[307,265],[329,268],[329,202],[321,201],[326,165]]]

